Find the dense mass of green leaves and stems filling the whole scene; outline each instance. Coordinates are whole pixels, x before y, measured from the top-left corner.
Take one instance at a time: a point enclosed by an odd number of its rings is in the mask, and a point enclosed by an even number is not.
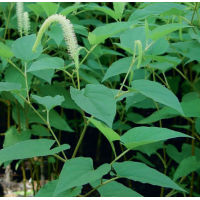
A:
[[[27,2],[24,10],[31,30],[20,37],[15,3],[0,3],[0,101],[8,107],[1,164],[20,160],[23,166],[29,158],[35,166],[32,158],[42,156],[50,163],[64,162],[59,177],[44,185],[38,197],[88,196],[96,190],[102,197],[145,194],[116,181],[121,178],[160,186],[156,195],[198,196],[199,3]],[[56,13],[70,19],[84,47],[78,68],[57,23],[32,52],[38,28]],[[75,118],[67,115],[70,110]],[[87,127],[103,134],[112,151],[110,163],[97,169],[92,158],[80,157],[84,150],[78,151]],[[60,144],[61,131],[78,138],[67,156],[72,141]],[[108,145],[99,140],[98,145]],[[161,169],[152,156],[161,161]]]

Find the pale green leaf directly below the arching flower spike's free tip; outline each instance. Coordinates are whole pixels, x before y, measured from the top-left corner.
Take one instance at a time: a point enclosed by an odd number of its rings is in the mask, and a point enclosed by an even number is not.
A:
[[[61,69],[64,68],[64,60],[58,57],[47,57],[32,63],[27,72],[39,71],[45,69]]]

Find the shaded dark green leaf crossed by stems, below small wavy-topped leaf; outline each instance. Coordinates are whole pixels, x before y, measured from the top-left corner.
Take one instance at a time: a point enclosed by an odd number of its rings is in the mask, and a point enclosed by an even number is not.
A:
[[[41,111],[39,111],[39,113],[44,119],[46,119],[46,113]],[[27,117],[29,119],[29,123],[40,123],[46,125],[45,122],[40,119],[38,115],[33,111],[29,112]],[[52,127],[58,130],[73,132],[73,130],[67,124],[66,120],[64,120],[55,110],[51,110],[49,112],[49,123]]]

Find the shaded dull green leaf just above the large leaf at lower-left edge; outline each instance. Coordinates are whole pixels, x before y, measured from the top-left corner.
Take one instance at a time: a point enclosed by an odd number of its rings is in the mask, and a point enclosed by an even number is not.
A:
[[[12,146],[18,142],[30,139],[31,131],[25,130],[19,133],[14,126],[11,126],[5,133],[3,148]]]

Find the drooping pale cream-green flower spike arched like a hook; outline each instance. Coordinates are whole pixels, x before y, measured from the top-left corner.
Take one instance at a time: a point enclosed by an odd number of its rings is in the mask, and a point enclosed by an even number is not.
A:
[[[45,20],[45,22],[42,24],[42,26],[38,32],[38,35],[37,35],[35,44],[33,45],[32,51],[36,51],[36,48],[40,44],[40,41],[42,39],[42,36],[43,36],[45,30],[53,22],[58,22],[61,25],[65,43],[67,45],[68,53],[69,53],[70,57],[74,60],[76,51],[78,49],[77,38],[74,33],[73,25],[71,24],[70,20],[66,19],[65,16],[60,15],[60,14],[51,15],[50,17],[48,17]]]

